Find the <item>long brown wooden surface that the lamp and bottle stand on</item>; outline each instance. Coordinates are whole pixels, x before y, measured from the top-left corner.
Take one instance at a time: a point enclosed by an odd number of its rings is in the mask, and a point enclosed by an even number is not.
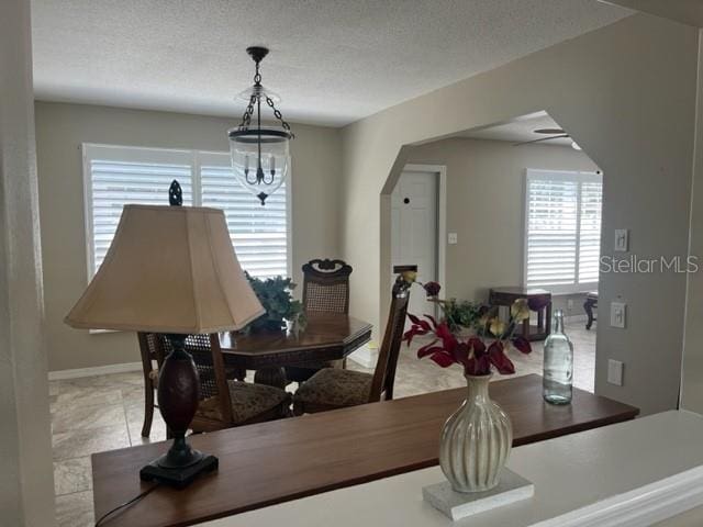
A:
[[[581,390],[573,391],[571,405],[548,405],[542,399],[542,378],[534,374],[493,382],[490,390],[511,416],[515,446],[639,413]],[[219,471],[182,491],[157,489],[107,525],[193,525],[437,464],[442,425],[465,396],[466,389],[446,390],[193,436],[194,448],[220,458]],[[140,481],[140,468],[168,446],[164,441],[93,455],[96,517],[148,489]]]

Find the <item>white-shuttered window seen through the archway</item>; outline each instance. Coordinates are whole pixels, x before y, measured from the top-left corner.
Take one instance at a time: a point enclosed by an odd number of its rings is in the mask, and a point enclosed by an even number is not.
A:
[[[601,175],[527,169],[526,179],[524,284],[553,293],[596,288]]]

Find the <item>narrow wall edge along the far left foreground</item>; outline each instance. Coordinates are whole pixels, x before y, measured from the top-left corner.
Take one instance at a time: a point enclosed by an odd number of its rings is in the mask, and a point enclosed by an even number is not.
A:
[[[51,527],[54,471],[30,0],[0,2],[0,525]]]

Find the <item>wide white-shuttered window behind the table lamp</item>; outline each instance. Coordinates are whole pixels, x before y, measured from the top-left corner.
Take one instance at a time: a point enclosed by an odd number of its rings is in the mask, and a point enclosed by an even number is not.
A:
[[[286,183],[261,206],[234,179],[228,153],[83,144],[86,238],[91,278],[126,203],[168,204],[177,179],[185,205],[222,209],[242,267],[255,277],[289,274]]]

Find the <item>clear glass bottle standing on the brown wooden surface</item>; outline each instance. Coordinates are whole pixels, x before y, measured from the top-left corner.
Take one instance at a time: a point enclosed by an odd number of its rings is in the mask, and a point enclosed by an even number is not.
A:
[[[551,404],[569,404],[573,384],[573,345],[563,333],[563,312],[556,310],[545,340],[543,392]]]

